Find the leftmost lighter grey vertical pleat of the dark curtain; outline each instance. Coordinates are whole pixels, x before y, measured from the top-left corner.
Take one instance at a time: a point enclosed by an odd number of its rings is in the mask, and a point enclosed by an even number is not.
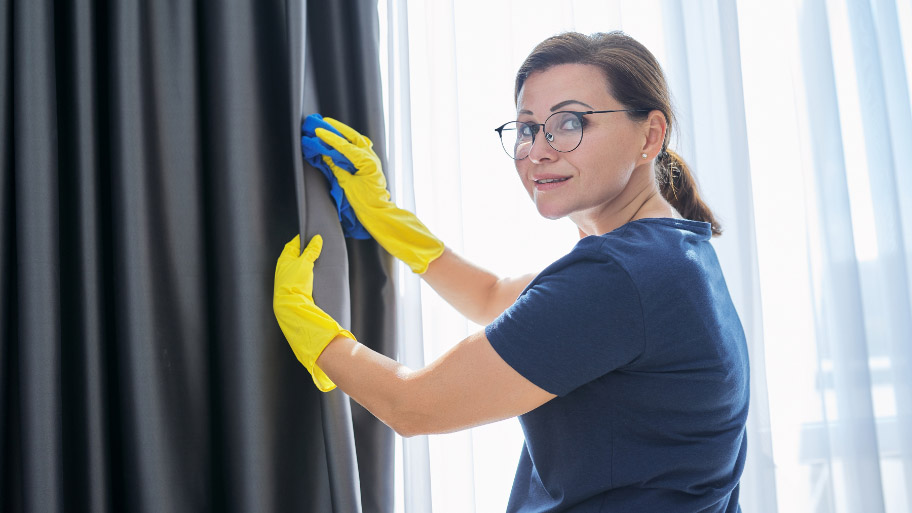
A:
[[[12,48],[14,166],[29,169],[15,180],[16,290],[18,317],[19,468],[23,506],[60,511],[63,506],[60,372],[60,250],[57,195],[57,99],[54,70],[54,10],[29,2],[13,10]],[[4,216],[5,217],[5,216]],[[30,234],[18,237],[18,234]]]

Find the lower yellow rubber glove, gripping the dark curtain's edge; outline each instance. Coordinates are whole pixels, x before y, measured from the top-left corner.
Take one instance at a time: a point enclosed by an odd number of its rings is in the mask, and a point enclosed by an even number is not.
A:
[[[323,238],[314,235],[301,253],[301,237],[285,245],[276,264],[272,309],[291,349],[314,378],[322,392],[336,388],[319,367],[317,358],[338,335],[352,340],[355,336],[343,329],[314,303],[313,264],[323,250]]]

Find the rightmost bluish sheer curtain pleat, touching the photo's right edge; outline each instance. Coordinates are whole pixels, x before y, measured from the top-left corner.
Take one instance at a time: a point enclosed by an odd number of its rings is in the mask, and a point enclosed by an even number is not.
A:
[[[908,212],[912,202],[904,198],[907,195],[899,188],[898,180],[899,175],[909,174],[909,167],[902,163],[907,161],[905,150],[912,140],[912,112],[904,73],[908,64],[904,65],[902,57],[895,3],[848,2],[847,7],[868,180],[871,196],[876,198],[872,206],[878,265],[861,268],[869,352],[872,356],[889,357],[892,375],[888,380],[893,385],[896,405],[893,429],[900,433],[896,448],[889,447],[882,438],[878,440],[876,459],[879,464],[883,456],[898,452],[904,467],[902,482],[906,490],[912,490],[912,282],[902,215],[902,203],[906,203]],[[905,220],[912,221],[908,217]],[[908,228],[906,232],[912,233]],[[875,320],[878,318],[883,321]],[[878,326],[881,322],[883,327]],[[887,344],[883,344],[884,335],[890,341]],[[869,387],[880,381],[876,376],[871,379]],[[883,437],[882,433],[883,430],[878,434]],[[912,496],[908,494],[906,505],[912,507]]]

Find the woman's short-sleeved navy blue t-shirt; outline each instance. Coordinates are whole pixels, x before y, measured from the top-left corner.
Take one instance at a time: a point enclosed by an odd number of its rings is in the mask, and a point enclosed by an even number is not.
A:
[[[589,236],[485,328],[558,397],[519,417],[511,512],[740,511],[747,344],[708,223]]]

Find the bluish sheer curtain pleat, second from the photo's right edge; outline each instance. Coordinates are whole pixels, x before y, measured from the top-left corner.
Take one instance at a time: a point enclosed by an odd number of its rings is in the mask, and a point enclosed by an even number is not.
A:
[[[811,1],[799,12],[808,118],[815,120],[810,131],[815,193],[810,208],[829,227],[810,232],[809,251],[816,263],[811,271],[819,305],[817,351],[819,358],[832,362],[837,399],[837,411],[826,411],[835,429],[821,431],[829,456],[824,462],[844,461],[840,465],[843,483],[852,486],[834,482],[834,469],[825,463],[815,472],[825,485],[817,507],[833,510],[835,494],[841,493],[850,511],[874,512],[884,510],[881,473],[855,242],[852,231],[845,229],[852,226],[852,219],[825,8],[822,1]],[[842,490],[837,492],[836,487]]]

